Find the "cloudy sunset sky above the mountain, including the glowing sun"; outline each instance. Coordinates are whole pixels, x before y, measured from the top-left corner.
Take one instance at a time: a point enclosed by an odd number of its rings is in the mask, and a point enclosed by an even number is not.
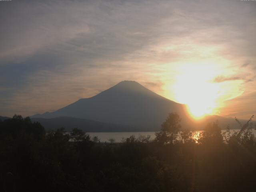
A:
[[[0,116],[134,80],[193,114],[256,115],[256,1],[0,1]]]

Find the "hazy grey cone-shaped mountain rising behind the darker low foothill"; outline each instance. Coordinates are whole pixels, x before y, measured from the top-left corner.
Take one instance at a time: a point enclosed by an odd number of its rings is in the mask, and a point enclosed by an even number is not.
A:
[[[139,130],[159,130],[169,112],[185,117],[185,106],[168,100],[135,81],[122,81],[91,98],[32,118],[72,117],[122,124]]]

